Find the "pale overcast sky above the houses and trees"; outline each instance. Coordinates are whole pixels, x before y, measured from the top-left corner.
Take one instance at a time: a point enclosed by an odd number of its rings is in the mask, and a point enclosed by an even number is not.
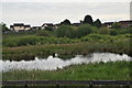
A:
[[[103,0],[105,1],[105,0]],[[59,23],[68,19],[72,23],[84,20],[90,14],[101,22],[121,21],[130,19],[130,2],[95,0],[2,0],[0,3],[1,22],[11,25],[13,23],[25,23],[40,26],[43,23]],[[117,0],[118,1],[118,0]]]

